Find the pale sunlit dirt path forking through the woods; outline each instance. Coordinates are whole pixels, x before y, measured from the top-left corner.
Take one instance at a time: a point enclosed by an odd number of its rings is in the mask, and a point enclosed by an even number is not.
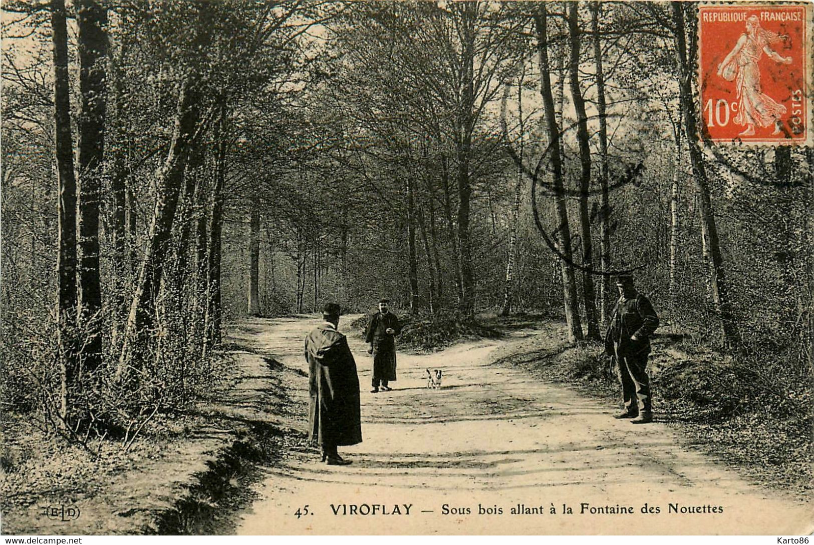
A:
[[[316,323],[257,321],[242,342],[307,371],[302,339]],[[518,335],[532,334],[539,332]],[[682,449],[667,425],[617,421],[613,407],[492,364],[498,347],[519,340],[400,353],[396,390],[378,395],[369,393],[365,345],[353,334],[349,340],[365,438],[340,448],[353,464],[326,466],[304,448],[283,453],[265,469],[260,499],[243,514],[239,534],[782,535],[812,527],[809,504],[751,486]],[[443,389],[426,389],[425,368],[444,369]],[[291,392],[290,414],[300,406],[302,430],[306,389],[301,377]],[[644,514],[645,504],[659,512]],[[306,505],[308,514],[297,517]]]

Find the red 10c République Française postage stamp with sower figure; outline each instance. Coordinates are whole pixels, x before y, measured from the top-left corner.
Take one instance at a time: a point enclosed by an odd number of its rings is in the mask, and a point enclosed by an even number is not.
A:
[[[701,129],[712,142],[811,143],[807,4],[698,8]]]

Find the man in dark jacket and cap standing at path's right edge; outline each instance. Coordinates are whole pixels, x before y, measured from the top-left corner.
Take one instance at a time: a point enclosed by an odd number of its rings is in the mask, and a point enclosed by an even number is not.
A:
[[[619,300],[605,334],[605,352],[615,358],[622,382],[624,410],[615,418],[632,418],[633,424],[646,424],[653,420],[647,356],[650,335],[659,327],[659,316],[650,300],[633,286],[632,275],[619,275],[616,287]]]

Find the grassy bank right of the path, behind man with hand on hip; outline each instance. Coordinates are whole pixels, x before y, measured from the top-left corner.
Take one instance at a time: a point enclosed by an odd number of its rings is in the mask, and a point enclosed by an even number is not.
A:
[[[682,342],[654,338],[648,368],[654,419],[681,429],[685,445],[733,466],[747,480],[809,499],[812,491],[811,412],[788,414],[772,406],[761,385],[742,387],[735,362]],[[621,386],[598,342],[567,346],[564,325],[549,321],[534,338],[496,364],[523,368],[530,377],[575,387],[621,408]]]

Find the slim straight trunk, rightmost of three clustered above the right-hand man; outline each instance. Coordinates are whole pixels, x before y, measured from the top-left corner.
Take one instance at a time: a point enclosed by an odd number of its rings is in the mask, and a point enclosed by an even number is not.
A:
[[[602,4],[593,2],[592,30],[593,30],[593,57],[597,68],[597,113],[599,114],[599,154],[601,167],[599,171],[599,185],[601,190],[601,200],[599,206],[600,221],[600,244],[599,259],[600,268],[603,271],[610,270],[610,198],[608,195],[608,124],[607,107],[605,98],[605,72],[602,68],[602,40],[599,34],[599,15],[602,13]],[[599,320],[602,325],[607,324],[608,312],[610,311],[610,278],[602,276],[599,283]]]

